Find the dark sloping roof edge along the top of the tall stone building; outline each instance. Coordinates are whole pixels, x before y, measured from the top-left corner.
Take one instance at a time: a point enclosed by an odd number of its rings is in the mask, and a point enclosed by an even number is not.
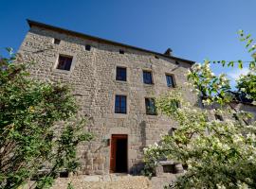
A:
[[[110,40],[105,40],[105,39],[102,39],[102,38],[99,38],[99,37],[83,34],[83,33],[77,32],[77,31],[72,31],[72,30],[65,29],[65,28],[58,27],[58,26],[46,25],[44,23],[39,23],[39,22],[32,21],[32,20],[29,20],[29,19],[27,19],[27,24],[28,24],[29,27],[32,27],[32,26],[44,27],[46,29],[66,33],[66,34],[73,35],[73,36],[76,36],[76,37],[80,37],[80,38],[83,38],[83,39],[98,41],[98,42],[101,42],[101,43],[109,43],[109,44],[113,44],[113,45],[122,46],[122,47],[125,47],[125,48],[131,48],[131,49],[134,49],[134,50],[155,54],[155,55],[162,56],[162,57],[169,58],[169,59],[173,59],[173,60],[184,61],[184,62],[190,63],[191,65],[193,63],[195,63],[195,61],[192,61],[192,60],[185,60],[185,59],[181,59],[181,58],[178,58],[178,57],[158,53],[158,52],[155,52],[155,51],[152,51],[152,50],[147,50],[147,49],[144,49],[144,48],[140,48],[140,47],[137,47],[137,46],[124,44],[124,43],[113,42],[113,41],[110,41]]]

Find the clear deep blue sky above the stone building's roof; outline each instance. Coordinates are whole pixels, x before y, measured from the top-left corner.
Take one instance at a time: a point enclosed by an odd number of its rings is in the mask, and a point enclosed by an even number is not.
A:
[[[1,0],[0,52],[17,50],[26,19],[202,62],[251,60],[237,31],[256,38],[256,0]],[[213,67],[237,78],[247,69]]]

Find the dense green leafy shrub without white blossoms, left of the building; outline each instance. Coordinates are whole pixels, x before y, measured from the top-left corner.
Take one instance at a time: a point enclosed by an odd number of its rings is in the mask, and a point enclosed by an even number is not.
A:
[[[92,135],[85,119],[76,118],[70,89],[29,78],[30,64],[8,50],[9,57],[0,59],[0,188],[18,188],[30,179],[46,188],[60,171],[75,171],[76,147]]]

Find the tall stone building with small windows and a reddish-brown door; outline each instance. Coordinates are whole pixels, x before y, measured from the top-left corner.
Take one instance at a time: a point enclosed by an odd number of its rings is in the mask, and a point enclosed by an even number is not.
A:
[[[137,174],[143,147],[171,132],[173,120],[155,112],[155,97],[180,87],[186,100],[197,96],[185,86],[194,63],[172,55],[116,43],[27,20],[30,27],[19,53],[36,62],[31,77],[72,87],[88,116],[95,139],[79,146],[82,174]]]

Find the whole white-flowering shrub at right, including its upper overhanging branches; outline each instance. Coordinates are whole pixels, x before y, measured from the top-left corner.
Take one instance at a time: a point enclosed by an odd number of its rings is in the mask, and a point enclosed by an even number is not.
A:
[[[242,36],[241,36],[242,34]],[[251,45],[250,35],[242,41]],[[251,50],[252,49],[252,50]],[[255,50],[252,45],[249,52]],[[238,93],[247,94],[255,102],[255,58],[249,61],[250,73],[238,80]],[[227,119],[209,120],[209,109],[200,109],[186,102],[178,91],[159,97],[158,112],[172,117],[178,124],[174,134],[165,135],[159,144],[145,148],[145,163],[154,171],[159,160],[171,159],[188,166],[184,175],[178,177],[174,188],[256,188],[256,123],[246,121],[246,112],[235,112],[230,105],[233,95],[229,93],[229,79],[215,76],[210,63],[243,69],[245,61],[209,61],[195,64],[188,73],[188,81],[194,93],[203,99],[205,107],[217,107],[214,113],[225,114]],[[181,106],[174,106],[176,100]]]

